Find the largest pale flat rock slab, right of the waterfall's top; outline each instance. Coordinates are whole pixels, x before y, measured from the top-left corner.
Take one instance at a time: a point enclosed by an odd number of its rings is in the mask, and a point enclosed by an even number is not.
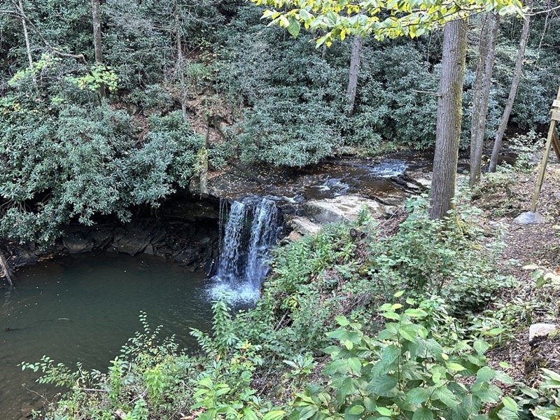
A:
[[[303,208],[307,216],[321,224],[354,221],[362,209],[366,209],[374,216],[386,216],[391,214],[394,209],[392,206],[385,206],[358,195],[311,200],[305,203]]]

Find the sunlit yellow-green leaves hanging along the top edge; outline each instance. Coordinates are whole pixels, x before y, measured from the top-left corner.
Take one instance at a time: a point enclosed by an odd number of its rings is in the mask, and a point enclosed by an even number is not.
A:
[[[252,0],[269,6],[263,18],[297,36],[305,29],[325,34],[316,43],[330,46],[349,35],[373,35],[377,39],[421,36],[451,20],[489,10],[500,15],[521,14],[519,0]]]

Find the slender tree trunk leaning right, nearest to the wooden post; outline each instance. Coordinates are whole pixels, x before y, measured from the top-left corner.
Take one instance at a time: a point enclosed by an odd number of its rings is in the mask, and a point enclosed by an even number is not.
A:
[[[528,10],[531,10],[531,8],[533,8],[533,0],[528,0],[526,6]],[[513,102],[515,101],[515,95],[517,95],[517,87],[519,87],[519,81],[521,80],[523,57],[525,57],[525,49],[527,47],[527,40],[529,37],[530,18],[531,15],[527,13],[523,22],[523,29],[521,30],[521,41],[519,41],[519,50],[517,50],[517,59],[515,60],[515,67],[513,70],[510,96],[507,97],[507,103],[505,104],[505,109],[503,110],[502,120],[500,121],[498,132],[496,133],[496,139],[494,139],[494,146],[492,148],[492,156],[490,158],[490,167],[488,169],[488,172],[496,172],[496,166],[498,166],[498,155],[500,154],[500,149],[502,148],[503,134],[505,133],[505,129],[507,128],[507,121],[510,120],[510,113],[512,112]]]

